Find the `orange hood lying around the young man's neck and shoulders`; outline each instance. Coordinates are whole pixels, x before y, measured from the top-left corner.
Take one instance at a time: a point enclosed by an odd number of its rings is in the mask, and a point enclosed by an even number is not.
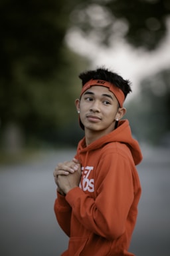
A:
[[[107,135],[102,136],[101,138],[97,139],[96,141],[92,142],[90,145],[86,147],[86,139],[85,137],[78,143],[78,152],[88,153],[90,151],[100,149],[104,145],[112,142],[119,142],[126,144],[133,157],[133,161],[135,165],[139,164],[142,160],[141,149],[139,147],[139,143],[133,139],[131,135],[131,129],[129,127],[129,121],[121,120],[118,122],[118,127],[108,133]]]

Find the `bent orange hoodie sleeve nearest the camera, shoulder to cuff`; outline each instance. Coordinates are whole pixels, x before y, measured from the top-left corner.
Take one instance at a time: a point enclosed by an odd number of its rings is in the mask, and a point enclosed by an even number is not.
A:
[[[117,239],[124,233],[134,198],[131,168],[124,155],[105,154],[96,170],[96,199],[79,187],[67,193],[66,201],[84,227],[106,239]]]

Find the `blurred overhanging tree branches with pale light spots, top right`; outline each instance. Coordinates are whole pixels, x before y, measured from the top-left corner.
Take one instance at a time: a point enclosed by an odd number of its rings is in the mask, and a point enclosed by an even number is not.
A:
[[[164,39],[169,0],[84,1],[72,12],[72,23],[100,43],[125,37],[135,47],[153,50]]]

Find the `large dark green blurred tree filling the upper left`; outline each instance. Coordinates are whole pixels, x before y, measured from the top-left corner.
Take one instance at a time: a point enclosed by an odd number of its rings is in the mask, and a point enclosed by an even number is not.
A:
[[[27,138],[52,140],[71,120],[77,75],[86,66],[64,44],[77,2],[1,1],[1,134],[15,124]]]

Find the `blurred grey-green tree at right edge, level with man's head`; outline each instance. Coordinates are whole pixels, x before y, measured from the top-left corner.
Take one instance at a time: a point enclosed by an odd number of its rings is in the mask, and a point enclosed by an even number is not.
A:
[[[128,105],[128,119],[141,141],[170,143],[170,69],[143,79],[139,97]],[[167,141],[165,141],[165,138]]]

